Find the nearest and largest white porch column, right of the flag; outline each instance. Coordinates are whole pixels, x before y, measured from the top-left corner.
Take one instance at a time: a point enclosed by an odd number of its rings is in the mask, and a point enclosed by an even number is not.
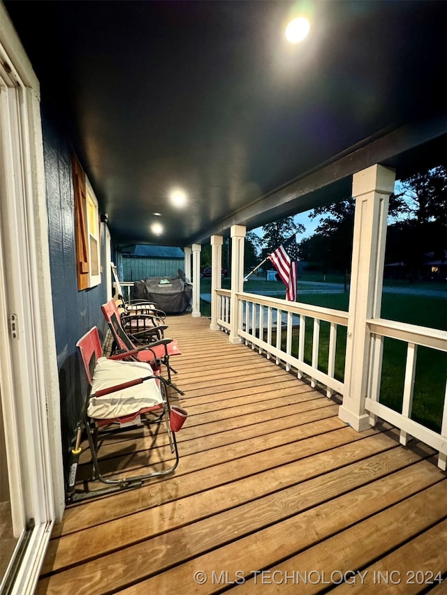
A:
[[[369,428],[365,412],[370,339],[366,321],[380,317],[388,200],[395,171],[372,165],[353,176],[356,197],[344,398],[339,418],[357,431]]]

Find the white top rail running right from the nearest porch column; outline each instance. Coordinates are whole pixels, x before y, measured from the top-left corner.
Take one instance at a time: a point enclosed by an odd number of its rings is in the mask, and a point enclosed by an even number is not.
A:
[[[384,318],[368,319],[367,325],[369,330],[376,335],[439,349],[439,351],[447,351],[447,331]]]

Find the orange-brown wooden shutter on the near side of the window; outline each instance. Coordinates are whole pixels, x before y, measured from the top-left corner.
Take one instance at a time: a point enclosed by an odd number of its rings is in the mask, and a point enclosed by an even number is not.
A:
[[[85,173],[78,159],[73,155],[73,188],[75,192],[76,260],[78,265],[78,289],[89,286],[89,248],[87,234],[87,203],[85,195]]]

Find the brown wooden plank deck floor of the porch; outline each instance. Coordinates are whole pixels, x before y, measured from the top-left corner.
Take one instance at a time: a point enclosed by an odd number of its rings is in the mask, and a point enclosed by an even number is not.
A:
[[[358,434],[335,402],[207,319],[168,324],[189,412],[179,467],[66,509],[38,594],[447,592],[435,581],[447,481],[430,449],[389,428]],[[148,441],[110,468],[141,465]]]

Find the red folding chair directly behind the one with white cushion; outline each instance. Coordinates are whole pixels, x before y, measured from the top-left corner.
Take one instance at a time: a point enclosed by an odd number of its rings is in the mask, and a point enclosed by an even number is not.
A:
[[[160,363],[163,363],[168,370],[168,379],[166,380],[166,383],[169,386],[172,386],[177,393],[183,395],[184,393],[172,382],[171,372],[177,374],[177,370],[170,366],[169,363],[170,356],[181,354],[177,340],[162,338],[156,342],[142,343],[142,341],[138,339],[138,335],[135,340],[135,335],[129,335],[126,332],[126,329],[123,328],[121,317],[114,300],[111,299],[107,303],[103,303],[101,310],[103,311],[105,320],[112,333],[117,352],[127,354],[127,356],[133,357],[135,360],[149,363],[154,370],[159,368]],[[135,342],[133,342],[133,340],[135,340]],[[135,345],[137,342],[139,342],[140,345]]]

